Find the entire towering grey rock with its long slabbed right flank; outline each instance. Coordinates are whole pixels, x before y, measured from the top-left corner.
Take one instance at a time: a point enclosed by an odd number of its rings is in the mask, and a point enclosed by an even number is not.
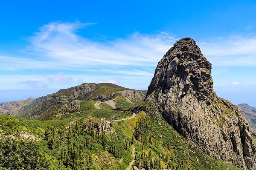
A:
[[[145,101],[210,156],[256,170],[256,149],[239,109],[213,90],[212,65],[191,38],[183,38],[159,61]]]

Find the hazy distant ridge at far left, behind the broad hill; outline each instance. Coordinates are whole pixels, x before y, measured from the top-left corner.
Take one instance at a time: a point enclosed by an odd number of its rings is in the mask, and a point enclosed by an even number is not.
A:
[[[16,115],[24,106],[34,101],[34,98],[28,98],[23,101],[9,101],[0,104],[0,115]]]

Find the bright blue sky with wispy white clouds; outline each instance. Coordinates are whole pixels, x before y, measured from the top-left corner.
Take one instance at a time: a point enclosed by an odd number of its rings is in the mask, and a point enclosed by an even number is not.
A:
[[[158,61],[193,38],[214,89],[256,107],[255,0],[3,0],[0,103],[82,83],[146,90]]]

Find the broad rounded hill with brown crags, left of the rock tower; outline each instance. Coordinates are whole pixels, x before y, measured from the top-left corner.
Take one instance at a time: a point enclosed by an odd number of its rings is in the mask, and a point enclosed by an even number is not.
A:
[[[108,101],[118,96],[138,101],[145,98],[145,92],[111,83],[86,83],[37,98],[20,110],[17,117],[50,120],[63,113],[81,112],[82,106],[89,106],[93,101]]]

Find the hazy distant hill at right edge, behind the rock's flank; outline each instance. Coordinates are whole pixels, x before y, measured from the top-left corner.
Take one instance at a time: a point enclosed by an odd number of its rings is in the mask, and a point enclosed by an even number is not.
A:
[[[256,136],[256,108],[251,107],[248,104],[238,104],[240,111],[249,122],[249,126],[254,136]]]

